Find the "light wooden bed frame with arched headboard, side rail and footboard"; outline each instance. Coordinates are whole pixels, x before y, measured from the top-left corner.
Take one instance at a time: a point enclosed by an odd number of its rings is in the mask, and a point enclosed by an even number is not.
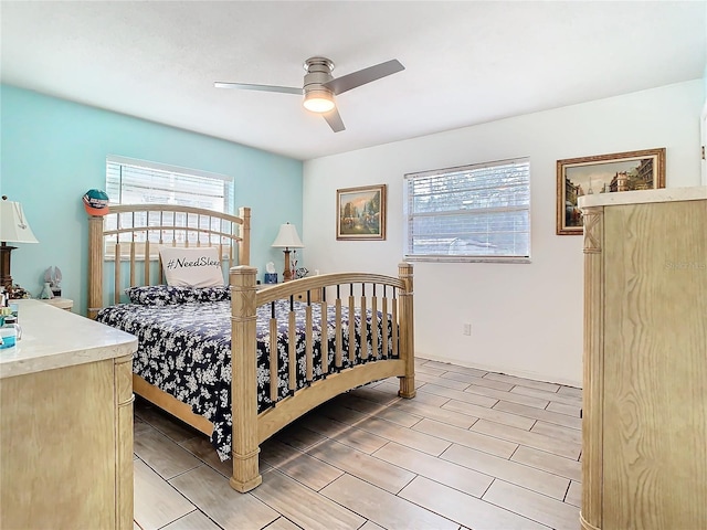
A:
[[[167,204],[110,206],[105,218],[88,218],[88,316],[92,318],[105,307],[106,300],[110,305],[125,299],[126,287],[163,283],[157,252],[160,246],[217,246],[223,263],[231,267],[233,476],[230,483],[239,491],[249,491],[262,481],[260,444],[320,403],[390,377],[400,378],[400,396],[415,395],[412,265],[400,264],[397,278],[365,273],[328,274],[258,290],[256,269],[247,266],[250,220],[247,208],[233,216]],[[233,266],[236,256],[240,266]],[[106,259],[113,263],[104,267]],[[107,293],[104,285],[108,286]],[[307,295],[299,298],[302,293]],[[278,379],[279,358],[273,342],[276,339],[272,337],[278,335],[274,303],[279,299],[291,303],[286,337],[295,335],[293,301],[306,301],[306,370],[299,381],[296,367],[302,362],[302,353],[296,352],[294,340],[287,344],[287,378]],[[268,364],[270,402],[275,405],[258,414],[256,309],[266,304],[273,304]],[[328,310],[335,315],[334,324],[320,328],[319,343],[325,344],[321,351],[327,353],[319,356],[317,364],[314,315],[317,311],[327,315]],[[344,318],[357,312],[370,316],[362,319],[362,325],[357,325],[354,318]],[[330,354],[331,343],[335,346]],[[376,362],[369,362],[373,360]],[[319,370],[321,378],[315,373]],[[211,422],[143,378],[134,375],[133,384],[138,395],[204,434],[213,432]],[[282,399],[285,390],[288,395]]]

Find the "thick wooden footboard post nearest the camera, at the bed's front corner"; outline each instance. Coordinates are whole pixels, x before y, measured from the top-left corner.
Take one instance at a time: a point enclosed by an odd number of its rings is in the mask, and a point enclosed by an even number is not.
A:
[[[255,344],[256,268],[233,267],[231,283],[231,400],[233,407],[233,489],[244,494],[263,481],[257,468],[257,381]]]

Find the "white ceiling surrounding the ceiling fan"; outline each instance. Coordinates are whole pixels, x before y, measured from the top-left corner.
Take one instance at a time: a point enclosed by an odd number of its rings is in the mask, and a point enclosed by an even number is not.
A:
[[[307,160],[703,77],[705,1],[2,1],[3,83]],[[337,98],[333,132],[299,96],[334,76],[401,73]],[[578,124],[578,126],[581,126]]]

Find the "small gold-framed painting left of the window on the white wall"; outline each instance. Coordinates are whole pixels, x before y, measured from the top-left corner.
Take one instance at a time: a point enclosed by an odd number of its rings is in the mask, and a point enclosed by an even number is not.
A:
[[[336,190],[336,239],[386,240],[386,184]]]

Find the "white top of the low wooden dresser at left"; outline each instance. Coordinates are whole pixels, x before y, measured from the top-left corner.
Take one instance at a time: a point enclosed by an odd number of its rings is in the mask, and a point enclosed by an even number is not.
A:
[[[39,300],[18,303],[22,339],[0,349],[0,379],[134,353],[137,338]]]

